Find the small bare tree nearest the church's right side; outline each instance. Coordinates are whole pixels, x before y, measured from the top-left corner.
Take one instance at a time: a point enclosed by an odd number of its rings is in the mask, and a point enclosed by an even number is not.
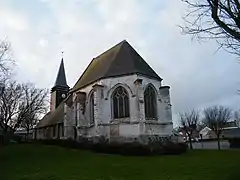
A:
[[[188,112],[180,113],[179,117],[180,117],[180,126],[189,138],[190,149],[193,149],[192,135],[194,131],[197,130],[197,125],[200,117],[199,111],[192,109]]]

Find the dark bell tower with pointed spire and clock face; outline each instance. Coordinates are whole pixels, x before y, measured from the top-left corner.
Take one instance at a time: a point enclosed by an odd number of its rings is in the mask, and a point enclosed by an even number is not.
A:
[[[54,111],[59,104],[67,97],[69,86],[67,85],[63,58],[61,60],[57,78],[51,89],[50,111]]]

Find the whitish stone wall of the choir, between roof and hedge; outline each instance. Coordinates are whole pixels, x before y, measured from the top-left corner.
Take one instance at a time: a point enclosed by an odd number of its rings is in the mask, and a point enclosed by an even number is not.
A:
[[[145,88],[151,84],[157,95],[157,120],[145,120],[144,97]],[[130,117],[124,119],[112,118],[112,92],[119,86],[123,86],[129,95]],[[125,136],[136,137],[142,135],[157,134],[167,136],[172,134],[172,112],[170,104],[170,93],[168,86],[162,86],[160,81],[149,79],[140,75],[129,75],[102,79],[85,88],[79,89],[78,92],[86,94],[86,104],[84,113],[79,105],[75,105],[74,111],[80,113],[77,117],[77,133],[79,136],[99,136],[104,135],[108,138]],[[95,123],[90,122],[90,96],[94,93],[94,119]],[[77,94],[72,96],[74,103]],[[70,111],[69,111],[70,112]],[[67,116],[66,116],[67,117]],[[65,119],[65,132],[72,134],[70,126],[74,125],[73,117]],[[67,121],[69,121],[67,123]],[[84,123],[81,123],[84,122]]]

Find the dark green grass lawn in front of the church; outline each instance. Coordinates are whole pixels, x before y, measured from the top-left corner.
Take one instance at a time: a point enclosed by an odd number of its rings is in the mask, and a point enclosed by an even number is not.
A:
[[[1,180],[238,180],[240,151],[124,157],[41,145],[0,148]]]

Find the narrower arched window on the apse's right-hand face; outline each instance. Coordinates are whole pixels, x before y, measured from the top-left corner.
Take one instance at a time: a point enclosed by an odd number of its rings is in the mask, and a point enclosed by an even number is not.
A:
[[[152,86],[144,91],[144,107],[146,119],[157,119],[156,93]]]

